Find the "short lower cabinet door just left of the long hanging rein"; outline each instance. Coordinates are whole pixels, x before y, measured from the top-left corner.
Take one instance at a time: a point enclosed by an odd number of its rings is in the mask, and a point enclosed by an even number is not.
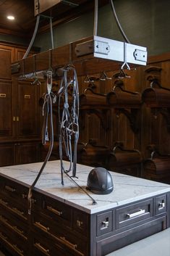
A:
[[[17,143],[14,146],[15,165],[38,162],[39,160],[39,142]]]

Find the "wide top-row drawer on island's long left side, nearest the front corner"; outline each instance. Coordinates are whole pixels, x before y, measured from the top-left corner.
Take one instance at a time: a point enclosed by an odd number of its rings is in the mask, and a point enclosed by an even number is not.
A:
[[[48,217],[62,223],[65,226],[72,226],[72,207],[50,197],[43,198],[43,213]]]

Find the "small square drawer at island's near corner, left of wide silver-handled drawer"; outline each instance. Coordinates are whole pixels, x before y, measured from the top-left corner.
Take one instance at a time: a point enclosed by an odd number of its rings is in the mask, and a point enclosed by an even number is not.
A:
[[[107,234],[113,230],[113,212],[103,212],[97,215],[97,236]]]

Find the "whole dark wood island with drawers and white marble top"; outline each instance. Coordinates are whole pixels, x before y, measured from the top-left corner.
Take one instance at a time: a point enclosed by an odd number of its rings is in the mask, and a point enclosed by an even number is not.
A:
[[[64,164],[69,166],[68,162]],[[77,165],[77,186],[60,161],[46,165],[33,189],[31,214],[27,194],[42,163],[0,168],[0,244],[12,255],[101,256],[169,227],[170,186],[111,172],[114,191],[90,194],[92,169]]]

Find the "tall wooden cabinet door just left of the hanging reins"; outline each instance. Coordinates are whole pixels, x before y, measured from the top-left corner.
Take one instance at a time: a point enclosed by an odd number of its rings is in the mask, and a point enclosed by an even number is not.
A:
[[[40,137],[39,86],[30,81],[17,81],[17,138],[31,139]]]

